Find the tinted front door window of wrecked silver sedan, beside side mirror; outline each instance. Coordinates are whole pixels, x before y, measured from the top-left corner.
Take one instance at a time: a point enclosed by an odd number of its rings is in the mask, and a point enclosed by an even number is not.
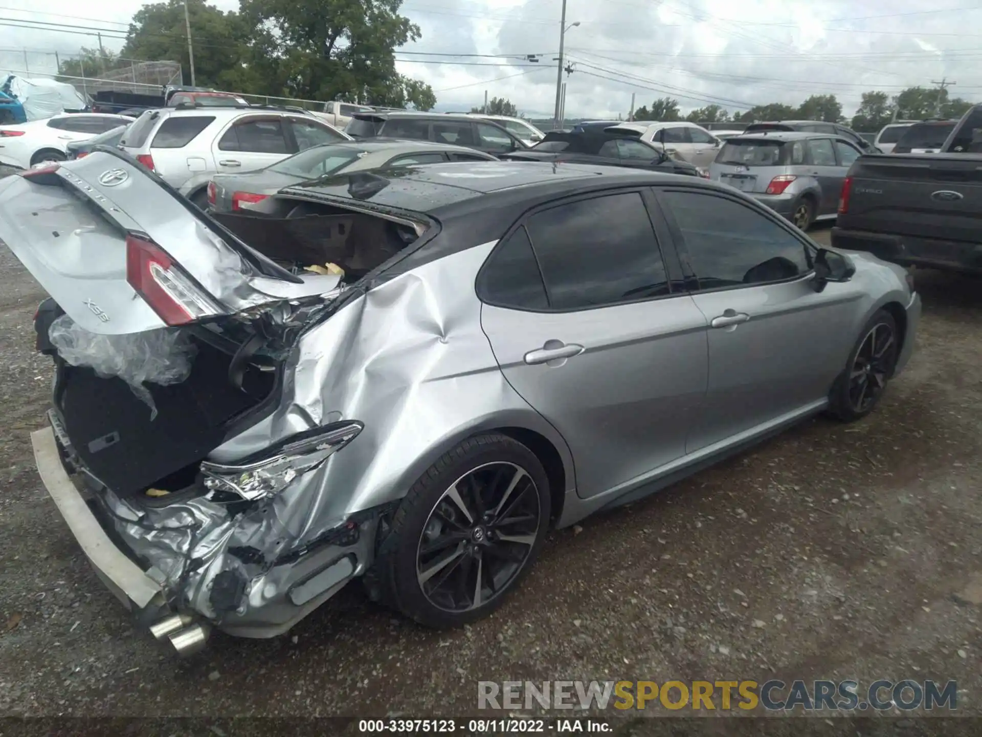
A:
[[[811,266],[804,245],[780,225],[733,199],[666,192],[700,289],[792,279]]]

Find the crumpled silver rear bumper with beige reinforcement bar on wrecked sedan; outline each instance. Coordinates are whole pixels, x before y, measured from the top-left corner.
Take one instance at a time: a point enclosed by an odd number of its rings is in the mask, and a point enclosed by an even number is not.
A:
[[[376,511],[302,546],[290,544],[274,505],[230,514],[187,499],[138,509],[104,490],[93,511],[62,463],[56,431],[37,430],[31,442],[41,481],[92,568],[147,627],[180,614],[239,637],[275,637],[371,564]]]

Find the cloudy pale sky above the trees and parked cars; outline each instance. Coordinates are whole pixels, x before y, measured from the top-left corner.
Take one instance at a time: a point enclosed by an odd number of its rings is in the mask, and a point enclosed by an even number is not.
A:
[[[55,51],[96,45],[80,27],[125,30],[141,5],[0,1],[0,68],[18,72],[53,71]],[[632,92],[638,105],[676,97],[683,111],[797,104],[833,92],[851,116],[864,90],[896,93],[944,78],[956,83],[953,96],[982,100],[982,0],[939,2],[941,9],[915,0],[568,0],[567,25],[579,25],[566,35],[567,116],[627,115]],[[234,10],[238,0],[215,4]],[[403,13],[422,38],[397,54],[400,69],[433,86],[440,110],[479,105],[486,89],[526,115],[549,117],[561,11],[562,0],[406,0]],[[19,19],[65,28],[16,28]]]

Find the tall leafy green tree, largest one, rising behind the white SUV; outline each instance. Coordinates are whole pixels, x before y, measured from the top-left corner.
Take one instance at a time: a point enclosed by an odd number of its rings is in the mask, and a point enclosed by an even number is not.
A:
[[[396,71],[396,47],[420,35],[399,14],[401,6],[402,0],[242,0],[246,66],[297,97],[429,109],[436,102],[430,86]]]

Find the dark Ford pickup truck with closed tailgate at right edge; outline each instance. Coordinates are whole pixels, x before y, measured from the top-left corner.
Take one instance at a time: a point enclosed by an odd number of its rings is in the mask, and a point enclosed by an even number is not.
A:
[[[939,153],[857,158],[832,245],[982,275],[982,105],[965,113]]]

